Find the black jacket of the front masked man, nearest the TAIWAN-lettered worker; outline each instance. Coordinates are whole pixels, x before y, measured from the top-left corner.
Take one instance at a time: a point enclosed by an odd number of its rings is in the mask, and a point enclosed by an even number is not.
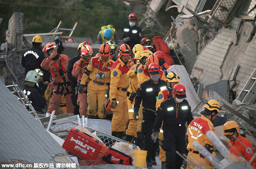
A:
[[[175,103],[174,98],[171,97],[164,100],[157,109],[153,132],[159,132],[162,122],[164,131],[186,122],[189,124],[193,119],[188,101],[184,99],[181,103]]]

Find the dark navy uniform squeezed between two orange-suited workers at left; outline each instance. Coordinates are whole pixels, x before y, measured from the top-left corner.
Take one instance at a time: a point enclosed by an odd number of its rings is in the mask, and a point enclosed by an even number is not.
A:
[[[67,77],[70,80],[70,86],[71,86],[71,92],[72,92],[71,100],[73,105],[75,106],[74,108],[75,115],[79,115],[79,105],[76,104],[77,103],[77,95],[76,95],[77,77],[72,76],[72,70],[75,62],[80,60],[80,58],[81,57],[79,55],[77,55],[76,57],[73,57],[68,61],[68,66],[67,66]]]

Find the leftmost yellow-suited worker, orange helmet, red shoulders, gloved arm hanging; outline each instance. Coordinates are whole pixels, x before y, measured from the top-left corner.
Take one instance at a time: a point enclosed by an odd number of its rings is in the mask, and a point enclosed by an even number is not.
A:
[[[88,118],[106,117],[105,101],[108,96],[108,86],[110,85],[110,74],[113,60],[109,59],[110,46],[103,43],[99,48],[99,54],[93,57],[84,71],[79,85],[78,92],[84,93],[86,82],[87,86],[87,102],[88,102]]]

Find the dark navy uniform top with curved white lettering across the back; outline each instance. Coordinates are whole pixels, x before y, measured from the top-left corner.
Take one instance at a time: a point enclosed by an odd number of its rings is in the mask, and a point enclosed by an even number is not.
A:
[[[30,70],[41,69],[40,64],[45,59],[44,52],[39,47],[33,46],[27,49],[21,58],[21,65],[25,68],[25,74]]]

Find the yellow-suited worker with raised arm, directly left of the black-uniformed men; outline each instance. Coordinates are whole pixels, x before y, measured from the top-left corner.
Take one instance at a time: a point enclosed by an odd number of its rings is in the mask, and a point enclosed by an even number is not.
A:
[[[137,44],[138,45],[138,44]],[[136,46],[136,45],[135,45]],[[134,47],[135,47],[134,46]],[[141,122],[142,122],[142,104],[140,104],[140,109],[139,109],[139,117],[137,117],[137,121],[134,120],[133,114],[134,114],[134,110],[133,110],[133,105],[134,105],[134,98],[136,96],[136,92],[138,89],[138,77],[137,77],[137,73],[138,73],[138,67],[140,66],[140,54],[143,51],[136,51],[135,52],[135,57],[134,57],[134,65],[131,66],[130,70],[128,71],[127,75],[130,78],[129,79],[129,87],[127,90],[127,104],[128,104],[128,113],[129,113],[129,125],[128,125],[128,129],[126,129],[126,141],[131,142],[132,137],[137,137],[137,133],[141,132]],[[138,133],[139,135],[140,133]],[[138,140],[136,140],[136,143],[139,142]],[[142,141],[140,141],[142,142]]]

